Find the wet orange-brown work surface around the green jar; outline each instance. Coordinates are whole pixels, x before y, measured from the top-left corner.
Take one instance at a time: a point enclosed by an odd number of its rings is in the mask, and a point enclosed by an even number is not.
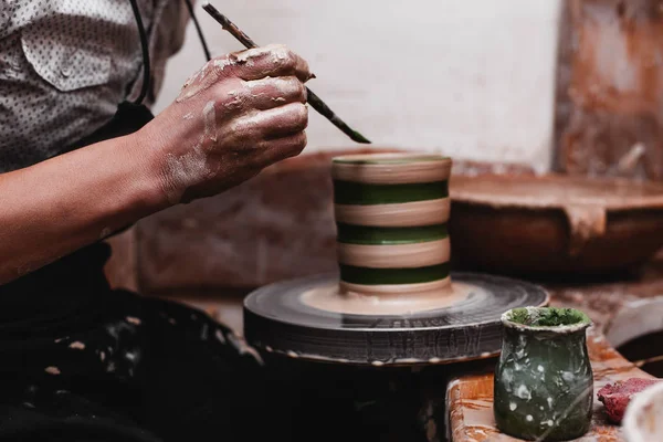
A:
[[[617,352],[606,339],[611,323],[633,305],[645,306],[660,302],[663,296],[663,261],[644,269],[639,278],[631,281],[582,284],[575,286],[548,285],[551,305],[585,311],[594,322],[588,332],[588,348],[594,373],[594,413],[590,432],[579,441],[622,441],[621,428],[607,421],[597,391],[607,383],[632,377],[651,378]],[[638,328],[642,323],[632,320]],[[663,324],[661,325],[663,326]],[[501,434],[493,419],[493,375],[470,375],[452,379],[446,390],[449,435],[453,442],[501,442],[517,439]]]

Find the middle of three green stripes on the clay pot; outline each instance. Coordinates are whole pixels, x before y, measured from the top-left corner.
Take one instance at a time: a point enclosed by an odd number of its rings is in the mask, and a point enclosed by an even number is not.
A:
[[[371,228],[337,223],[337,239],[344,244],[390,245],[417,244],[449,236],[446,224],[418,228]]]

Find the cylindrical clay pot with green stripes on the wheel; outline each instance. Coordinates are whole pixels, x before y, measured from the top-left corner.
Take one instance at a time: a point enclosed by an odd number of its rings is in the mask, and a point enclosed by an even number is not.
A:
[[[451,166],[438,155],[333,159],[341,292],[389,295],[450,285]]]

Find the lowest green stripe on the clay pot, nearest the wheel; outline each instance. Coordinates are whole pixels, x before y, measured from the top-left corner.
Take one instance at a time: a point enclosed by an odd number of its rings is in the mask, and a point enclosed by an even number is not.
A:
[[[351,284],[419,284],[444,280],[449,263],[419,269],[368,269],[339,264],[340,280]]]

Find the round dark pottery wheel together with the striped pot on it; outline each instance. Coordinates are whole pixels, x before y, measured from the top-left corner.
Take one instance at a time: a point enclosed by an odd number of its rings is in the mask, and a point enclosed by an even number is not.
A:
[[[270,285],[244,303],[249,344],[293,358],[372,366],[493,356],[501,316],[543,288],[450,275],[452,161],[381,154],[333,159],[338,275]]]

